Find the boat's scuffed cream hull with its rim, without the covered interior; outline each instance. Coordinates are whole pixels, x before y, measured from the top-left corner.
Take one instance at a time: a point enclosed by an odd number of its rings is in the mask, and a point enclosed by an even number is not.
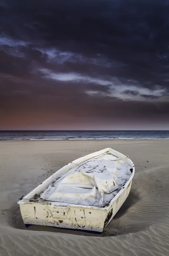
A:
[[[132,186],[132,178],[135,172],[135,166],[129,158],[126,159],[126,163],[131,166],[131,177],[126,184],[120,188],[117,195],[115,195],[109,204],[106,204],[103,207],[59,203],[54,201],[32,201],[30,199],[35,194],[38,194],[46,189],[46,187],[49,186],[52,181],[56,180],[60,174],[66,172],[69,168],[72,168],[74,164],[77,165],[83,161],[86,161],[87,159],[91,159],[92,157],[103,154],[107,151],[111,152],[111,154],[117,155],[118,157],[125,157],[123,154],[112,150],[111,148],[106,148],[88,156],[81,157],[55,172],[42,184],[37,186],[37,188],[32,190],[32,192],[18,201],[24,224],[27,226],[43,225],[63,229],[102,233],[104,228],[116,215],[129,195]]]

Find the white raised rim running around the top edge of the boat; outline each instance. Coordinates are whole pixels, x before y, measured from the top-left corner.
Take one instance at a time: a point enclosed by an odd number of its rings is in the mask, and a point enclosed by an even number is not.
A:
[[[32,195],[33,192],[36,191],[38,188],[40,188],[41,186],[43,186],[44,183],[47,183],[47,181],[51,180],[51,178],[53,178],[53,176],[54,176],[55,174],[58,174],[58,176],[59,176],[60,173],[63,173],[63,172],[62,172],[63,169],[65,169],[65,168],[68,167],[69,165],[71,165],[71,167],[70,167],[69,169],[67,169],[66,172],[68,172],[70,169],[72,169],[72,167],[73,167],[72,164],[75,164],[75,165],[76,165],[76,163],[74,163],[74,162],[78,162],[79,164],[81,164],[81,163],[85,162],[86,160],[89,160],[89,159],[91,159],[91,158],[93,158],[93,157],[96,157],[96,156],[99,156],[99,155],[101,155],[101,154],[105,154],[106,152],[110,152],[110,153],[112,153],[112,154],[116,154],[116,153],[117,153],[117,155],[120,154],[121,157],[126,157],[126,159],[128,159],[129,162],[130,162],[130,166],[131,166],[131,169],[132,169],[132,175],[130,176],[129,180],[127,180],[127,182],[126,182],[126,183],[123,185],[123,187],[120,189],[120,191],[117,193],[117,195],[115,195],[115,197],[112,198],[112,200],[109,201],[109,203],[105,204],[105,207],[104,207],[104,205],[103,205],[103,207],[101,207],[101,206],[98,207],[98,206],[90,206],[90,205],[83,205],[83,204],[72,204],[72,203],[57,202],[57,201],[45,201],[45,202],[44,202],[44,201],[42,201],[42,202],[40,202],[40,201],[33,201],[33,202],[26,202],[26,201],[24,201],[24,200],[28,200],[28,199],[30,200],[31,198],[28,198],[28,197],[30,197],[30,195]],[[96,153],[97,153],[97,154],[96,154]],[[99,153],[100,153],[100,154],[99,154]],[[93,156],[93,154],[95,154],[95,156]],[[89,158],[89,156],[91,156],[91,157]],[[86,160],[83,160],[83,159],[85,159],[86,157],[87,157],[87,159],[86,159]],[[79,162],[80,160],[83,160],[83,161]],[[66,173],[66,172],[64,172],[64,173]],[[96,151],[96,152],[93,152],[93,153],[91,153],[91,154],[85,155],[85,156],[83,156],[83,157],[79,157],[79,158],[77,158],[76,160],[74,160],[74,161],[68,163],[67,165],[63,166],[63,167],[60,168],[58,171],[54,172],[54,174],[52,174],[51,176],[49,176],[46,180],[44,180],[41,184],[39,184],[36,188],[34,188],[31,192],[29,192],[27,195],[25,195],[24,198],[22,198],[20,201],[17,202],[17,204],[34,204],[34,203],[35,203],[35,204],[50,204],[50,205],[52,205],[52,206],[54,206],[54,207],[80,207],[80,208],[81,208],[81,207],[84,207],[84,208],[88,208],[88,209],[107,210],[107,209],[109,209],[109,208],[111,207],[111,204],[112,204],[115,200],[117,200],[117,198],[121,195],[121,193],[123,193],[124,189],[130,184],[130,182],[131,182],[132,179],[133,179],[134,174],[135,174],[135,166],[134,166],[134,163],[132,162],[132,160],[131,160],[128,156],[126,156],[126,155],[124,155],[124,154],[122,154],[122,153],[120,153],[120,152],[118,152],[118,151],[115,151],[115,150],[112,149],[112,148],[105,148],[105,149],[102,149],[102,150],[100,150],[100,151]],[[56,178],[56,180],[57,180],[57,178]],[[51,183],[52,183],[52,182],[50,182],[47,186],[49,186]],[[42,191],[43,191],[43,190],[42,190]],[[27,198],[26,198],[26,197],[27,197]]]

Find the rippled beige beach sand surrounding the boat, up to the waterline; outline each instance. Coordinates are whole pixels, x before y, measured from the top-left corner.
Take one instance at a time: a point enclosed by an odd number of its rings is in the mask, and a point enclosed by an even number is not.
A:
[[[135,163],[132,189],[102,235],[23,224],[18,198],[106,147]],[[0,256],[169,255],[169,140],[0,142]]]

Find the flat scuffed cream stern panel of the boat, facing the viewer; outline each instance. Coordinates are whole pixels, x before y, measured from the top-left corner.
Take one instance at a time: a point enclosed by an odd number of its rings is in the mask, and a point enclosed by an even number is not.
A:
[[[21,202],[20,212],[26,225],[43,225],[102,233],[106,209],[86,206],[58,206],[53,203]]]

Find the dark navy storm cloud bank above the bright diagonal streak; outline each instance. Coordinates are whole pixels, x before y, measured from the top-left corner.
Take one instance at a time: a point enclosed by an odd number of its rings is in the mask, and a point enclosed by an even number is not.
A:
[[[112,75],[161,84],[159,73],[167,75],[169,58],[168,11],[165,1],[6,1],[0,30],[10,37],[9,46],[13,39],[16,45],[31,42],[98,60],[102,54],[107,73],[119,61],[122,67]]]

